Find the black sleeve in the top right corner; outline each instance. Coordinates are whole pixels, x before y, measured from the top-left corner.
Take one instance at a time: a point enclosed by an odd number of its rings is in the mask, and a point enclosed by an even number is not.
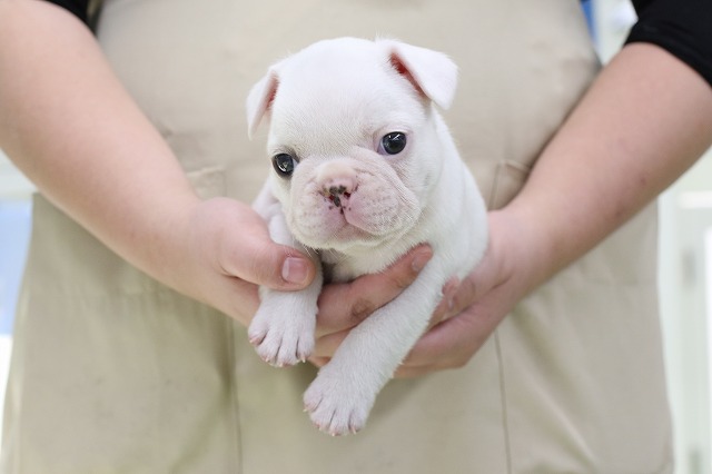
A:
[[[633,0],[633,7],[639,19],[625,42],[657,45],[712,86],[712,1]]]

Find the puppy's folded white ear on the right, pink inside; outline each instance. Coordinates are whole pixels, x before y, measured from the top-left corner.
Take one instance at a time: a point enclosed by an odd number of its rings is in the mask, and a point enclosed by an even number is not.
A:
[[[455,97],[457,66],[444,53],[399,41],[382,40],[390,65],[415,89],[439,107],[447,109]]]

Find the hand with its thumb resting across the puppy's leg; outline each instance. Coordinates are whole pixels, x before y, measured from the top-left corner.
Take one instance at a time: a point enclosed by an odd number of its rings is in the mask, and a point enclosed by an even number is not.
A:
[[[275,244],[263,218],[240,201],[200,201],[185,225],[181,263],[165,283],[245,326],[259,306],[259,285],[297,290],[316,274],[307,256]]]

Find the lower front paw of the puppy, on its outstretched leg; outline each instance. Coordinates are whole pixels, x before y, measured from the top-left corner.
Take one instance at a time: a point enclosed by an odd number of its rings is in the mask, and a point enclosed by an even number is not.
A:
[[[304,409],[319,431],[332,436],[357,433],[366,424],[375,399],[374,395],[365,395],[367,391],[363,388],[352,378],[322,369],[304,394]]]

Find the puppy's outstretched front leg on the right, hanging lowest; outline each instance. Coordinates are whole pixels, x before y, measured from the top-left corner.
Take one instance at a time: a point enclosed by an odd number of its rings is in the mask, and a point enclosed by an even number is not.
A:
[[[435,264],[435,265],[434,265]],[[445,278],[431,261],[416,282],[344,339],[304,394],[305,409],[322,431],[356,433],[383,386],[421,337],[442,298]]]

